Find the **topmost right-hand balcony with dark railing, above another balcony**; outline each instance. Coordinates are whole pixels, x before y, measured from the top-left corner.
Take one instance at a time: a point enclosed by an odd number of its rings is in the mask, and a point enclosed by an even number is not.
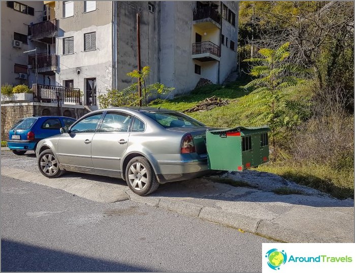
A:
[[[202,7],[193,11],[193,24],[199,24],[203,30],[211,27],[220,28],[220,20],[218,11],[211,7]]]

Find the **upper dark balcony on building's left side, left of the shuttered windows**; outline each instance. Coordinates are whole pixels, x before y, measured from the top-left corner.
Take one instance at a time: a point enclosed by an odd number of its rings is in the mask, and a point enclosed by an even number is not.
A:
[[[48,20],[28,26],[28,38],[46,44],[55,43],[54,36],[58,33],[58,20]]]

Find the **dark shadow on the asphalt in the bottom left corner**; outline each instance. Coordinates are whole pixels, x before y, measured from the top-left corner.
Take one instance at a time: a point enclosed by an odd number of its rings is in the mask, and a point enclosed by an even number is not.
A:
[[[49,271],[157,271],[128,263],[113,262],[103,259],[51,250],[21,242],[1,240],[1,271],[13,272],[49,272]]]

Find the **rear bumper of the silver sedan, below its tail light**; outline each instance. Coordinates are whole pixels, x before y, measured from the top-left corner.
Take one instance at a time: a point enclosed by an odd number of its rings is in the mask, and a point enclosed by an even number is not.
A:
[[[210,172],[207,158],[186,160],[158,160],[160,173],[159,183],[181,181],[206,175]]]

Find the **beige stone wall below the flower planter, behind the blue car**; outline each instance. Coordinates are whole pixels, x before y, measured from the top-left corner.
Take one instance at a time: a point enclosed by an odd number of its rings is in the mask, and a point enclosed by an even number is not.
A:
[[[19,119],[33,116],[33,105],[1,106],[1,140],[7,140],[8,132]]]

